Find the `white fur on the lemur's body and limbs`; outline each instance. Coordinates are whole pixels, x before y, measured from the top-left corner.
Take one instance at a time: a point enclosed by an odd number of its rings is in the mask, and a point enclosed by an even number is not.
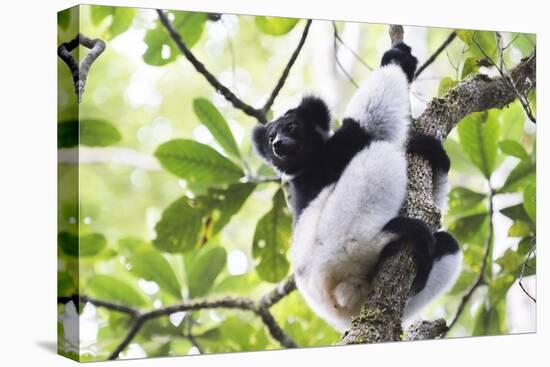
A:
[[[406,195],[408,114],[408,81],[402,69],[390,64],[372,72],[345,117],[358,121],[377,140],[321,191],[294,228],[296,284],[310,307],[341,330],[359,314],[370,287],[369,272],[384,246],[395,239],[382,228],[399,215]],[[425,288],[409,300],[405,318],[455,280],[460,258],[458,253],[434,263]]]

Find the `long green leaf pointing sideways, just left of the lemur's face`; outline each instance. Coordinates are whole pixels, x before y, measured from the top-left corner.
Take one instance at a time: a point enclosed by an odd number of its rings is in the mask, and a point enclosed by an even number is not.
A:
[[[208,145],[176,139],[160,145],[155,156],[169,172],[190,182],[223,184],[237,182],[243,171]]]

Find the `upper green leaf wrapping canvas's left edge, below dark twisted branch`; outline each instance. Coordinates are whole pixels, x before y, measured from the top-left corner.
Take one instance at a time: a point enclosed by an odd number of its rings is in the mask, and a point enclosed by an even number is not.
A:
[[[119,131],[109,122],[84,119],[69,120],[57,125],[57,147],[72,148],[78,145],[105,147],[122,139]]]

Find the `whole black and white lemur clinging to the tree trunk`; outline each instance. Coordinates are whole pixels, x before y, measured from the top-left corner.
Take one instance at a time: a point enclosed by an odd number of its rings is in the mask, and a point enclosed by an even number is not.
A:
[[[410,47],[395,44],[333,134],[327,105],[312,96],[253,131],[259,154],[289,178],[296,285],[310,307],[340,330],[359,314],[377,264],[402,237],[413,243],[418,265],[405,320],[450,286],[460,268],[462,254],[450,234],[399,216],[406,151],[431,163],[436,202],[441,205],[447,194],[450,162],[440,141],[408,137],[416,65]]]

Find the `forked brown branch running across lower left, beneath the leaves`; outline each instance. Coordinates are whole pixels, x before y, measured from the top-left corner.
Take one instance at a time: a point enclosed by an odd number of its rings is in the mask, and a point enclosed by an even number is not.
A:
[[[145,324],[146,321],[157,317],[170,316],[171,314],[176,312],[196,311],[214,308],[236,309],[252,312],[256,316],[260,317],[265,327],[269,330],[269,333],[271,334],[273,339],[278,341],[281,346],[286,348],[296,348],[297,344],[292,340],[289,335],[285,333],[285,331],[281,328],[281,326],[277,323],[277,321],[269,311],[269,308],[271,306],[280,301],[283,297],[288,295],[294,289],[296,289],[296,285],[294,283],[294,277],[291,275],[288,279],[281,282],[279,286],[265,294],[258,302],[254,302],[253,300],[245,297],[194,299],[146,312],[142,312],[139,309],[130,306],[109,301],[103,301],[85,295],[58,297],[57,303],[66,304],[70,301],[73,301],[78,309],[79,303],[89,302],[96,307],[103,307],[111,311],[129,315],[132,318],[132,326],[130,327],[130,330],[128,331],[124,339],[119,343],[119,345],[108,358],[109,360],[114,360],[117,359],[120,353],[124,349],[126,349],[126,347],[132,342],[132,340],[141,330],[141,327]]]

